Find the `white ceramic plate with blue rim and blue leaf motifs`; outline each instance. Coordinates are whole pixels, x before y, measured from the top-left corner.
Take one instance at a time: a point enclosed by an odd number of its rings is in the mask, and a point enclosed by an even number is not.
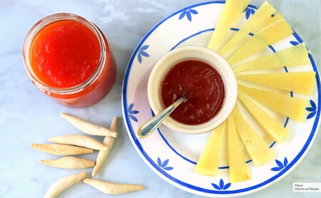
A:
[[[270,142],[270,147],[276,154],[275,160],[255,167],[248,159],[252,179],[230,184],[225,152],[222,154],[217,177],[205,177],[193,171],[210,133],[184,135],[161,125],[150,137],[138,139],[136,131],[139,125],[153,116],[147,96],[148,76],[153,65],[173,48],[186,45],[207,46],[223,5],[224,1],[210,1],[188,6],[156,24],[133,52],[123,82],[123,117],[128,135],[142,159],[170,184],[208,197],[235,197],[257,192],[285,177],[309,150],[317,135],[320,120],[320,77],[315,61],[309,53],[310,66],[285,68],[285,71],[303,70],[317,73],[315,88],[307,98],[310,100],[306,108],[307,119],[298,124],[277,115],[277,119],[282,120],[284,126],[290,130],[290,135],[280,145]],[[244,23],[256,9],[255,6],[248,6],[239,24]],[[233,31],[237,31],[237,28],[235,26]],[[302,39],[294,33],[267,48],[266,53],[280,51],[298,43],[302,43]]]

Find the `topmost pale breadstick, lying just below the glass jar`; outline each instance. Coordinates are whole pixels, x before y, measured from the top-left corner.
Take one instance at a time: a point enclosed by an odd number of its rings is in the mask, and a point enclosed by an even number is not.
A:
[[[67,113],[61,113],[61,118],[65,118],[71,125],[78,128],[82,132],[87,133],[88,135],[100,135],[100,136],[111,136],[117,137],[117,132],[110,130],[106,127],[101,127],[93,123],[89,123],[81,118],[77,118],[73,115]]]

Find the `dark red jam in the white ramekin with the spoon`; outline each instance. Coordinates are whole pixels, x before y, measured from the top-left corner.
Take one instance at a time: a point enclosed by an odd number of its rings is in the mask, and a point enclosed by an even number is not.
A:
[[[225,98],[223,80],[208,63],[180,62],[170,68],[161,83],[163,105],[168,107],[183,95],[187,100],[170,117],[187,125],[206,123],[222,108]]]

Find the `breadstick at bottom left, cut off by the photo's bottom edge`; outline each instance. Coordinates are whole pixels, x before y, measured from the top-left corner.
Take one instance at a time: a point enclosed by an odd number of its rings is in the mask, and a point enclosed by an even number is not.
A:
[[[57,197],[58,194],[63,192],[65,189],[68,189],[68,187],[71,187],[74,184],[80,182],[85,177],[86,177],[86,172],[83,171],[77,174],[71,174],[67,177],[62,177],[61,179],[58,179],[48,189],[48,191],[44,195],[44,198]]]

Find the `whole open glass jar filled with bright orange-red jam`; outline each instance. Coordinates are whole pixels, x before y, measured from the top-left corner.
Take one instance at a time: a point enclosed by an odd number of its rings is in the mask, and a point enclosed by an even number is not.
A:
[[[116,80],[116,61],[98,27],[75,14],[41,19],[24,41],[31,81],[57,103],[84,108],[102,100]]]

